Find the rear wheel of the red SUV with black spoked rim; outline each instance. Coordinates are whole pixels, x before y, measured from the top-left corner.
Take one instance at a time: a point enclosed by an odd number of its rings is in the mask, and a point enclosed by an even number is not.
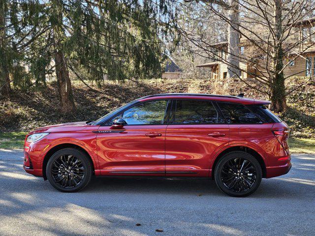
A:
[[[251,195],[258,188],[261,178],[262,171],[258,161],[244,151],[226,153],[215,169],[218,187],[223,193],[232,197]]]

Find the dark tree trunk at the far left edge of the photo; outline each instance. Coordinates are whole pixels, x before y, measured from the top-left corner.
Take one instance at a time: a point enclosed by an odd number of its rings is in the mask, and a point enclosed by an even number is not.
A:
[[[0,95],[10,95],[11,85],[6,52],[5,1],[0,1]]]

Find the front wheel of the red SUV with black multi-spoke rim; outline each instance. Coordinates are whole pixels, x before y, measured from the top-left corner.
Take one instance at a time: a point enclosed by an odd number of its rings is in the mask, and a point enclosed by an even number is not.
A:
[[[56,151],[48,160],[46,174],[50,184],[61,192],[77,192],[92,178],[89,157],[76,148]]]

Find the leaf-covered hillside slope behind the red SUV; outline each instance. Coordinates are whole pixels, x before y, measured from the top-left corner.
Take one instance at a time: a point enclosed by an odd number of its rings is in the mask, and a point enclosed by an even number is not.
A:
[[[59,112],[59,100],[55,83],[47,88],[33,89],[28,92],[14,90],[10,97],[0,98],[0,132],[31,131],[40,126],[95,120],[111,110],[136,98],[164,92],[200,92],[214,93],[209,80],[143,80],[138,83],[105,82],[102,93],[95,92],[81,82],[73,82],[73,94],[77,111],[68,116]],[[279,114],[291,129],[295,137],[315,135],[315,85],[300,89],[288,97],[289,109]],[[96,89],[96,88],[95,88]],[[229,94],[244,92],[246,97],[268,99],[243,83],[235,82]]]

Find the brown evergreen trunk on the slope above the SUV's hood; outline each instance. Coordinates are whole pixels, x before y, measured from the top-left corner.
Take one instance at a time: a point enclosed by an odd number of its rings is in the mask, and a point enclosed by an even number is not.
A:
[[[58,91],[61,103],[61,112],[62,113],[74,112],[76,108],[73,101],[69,71],[67,69],[67,63],[64,58],[63,52],[60,50],[56,50],[55,63]]]

